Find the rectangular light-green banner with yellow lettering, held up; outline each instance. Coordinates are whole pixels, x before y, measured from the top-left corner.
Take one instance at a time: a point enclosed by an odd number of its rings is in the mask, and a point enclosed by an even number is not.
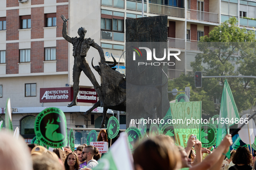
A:
[[[170,103],[175,143],[187,146],[191,134],[201,139],[201,101]],[[192,120],[192,121],[191,121]]]

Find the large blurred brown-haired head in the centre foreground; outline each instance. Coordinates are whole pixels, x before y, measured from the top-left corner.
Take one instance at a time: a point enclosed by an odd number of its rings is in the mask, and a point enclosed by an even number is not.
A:
[[[166,135],[139,144],[133,154],[135,170],[177,170],[181,167],[178,148]]]

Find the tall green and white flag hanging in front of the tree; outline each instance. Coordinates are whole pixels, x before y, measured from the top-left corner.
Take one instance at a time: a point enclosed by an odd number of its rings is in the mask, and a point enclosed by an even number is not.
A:
[[[226,118],[228,118],[228,122],[225,121]],[[219,124],[216,146],[219,146],[224,136],[229,134],[229,127],[234,124],[236,118],[239,119],[237,105],[234,101],[233,94],[226,79],[224,82],[224,88],[220,103],[220,116],[218,120]],[[227,152],[226,156],[230,158],[230,150]]]

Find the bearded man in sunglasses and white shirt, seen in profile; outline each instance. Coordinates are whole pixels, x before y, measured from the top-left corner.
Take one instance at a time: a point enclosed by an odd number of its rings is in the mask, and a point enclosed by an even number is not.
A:
[[[93,169],[98,165],[98,162],[93,158],[95,154],[99,154],[98,148],[91,145],[84,147],[83,157],[87,162],[87,168]]]

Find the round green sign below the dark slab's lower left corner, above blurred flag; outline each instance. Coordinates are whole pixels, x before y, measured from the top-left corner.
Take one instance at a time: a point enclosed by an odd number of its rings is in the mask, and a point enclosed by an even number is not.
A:
[[[142,139],[142,135],[139,129],[136,127],[129,127],[128,129],[126,129],[125,133],[128,136],[127,138],[128,148],[133,153],[135,148],[139,145]]]

